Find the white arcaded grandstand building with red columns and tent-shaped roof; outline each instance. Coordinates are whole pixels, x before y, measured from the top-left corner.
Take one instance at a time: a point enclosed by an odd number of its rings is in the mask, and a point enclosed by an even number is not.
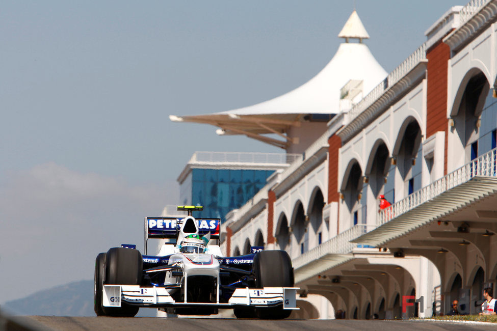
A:
[[[482,289],[497,290],[497,0],[450,8],[390,73],[355,11],[339,37],[287,94],[171,116],[300,154],[228,212],[222,249],[287,251],[295,317],[428,317],[456,298],[477,313]]]

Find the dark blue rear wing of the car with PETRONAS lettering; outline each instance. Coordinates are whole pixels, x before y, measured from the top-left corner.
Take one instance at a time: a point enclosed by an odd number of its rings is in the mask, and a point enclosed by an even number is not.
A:
[[[184,217],[145,217],[145,254],[149,238],[176,239]],[[221,218],[197,218],[198,234],[211,233],[211,239],[220,239]]]

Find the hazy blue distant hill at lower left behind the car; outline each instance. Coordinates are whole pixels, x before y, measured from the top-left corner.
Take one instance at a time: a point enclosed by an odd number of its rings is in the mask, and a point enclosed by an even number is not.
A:
[[[2,307],[19,315],[95,316],[93,280],[69,283],[43,290]],[[156,310],[141,308],[137,316],[155,316]]]

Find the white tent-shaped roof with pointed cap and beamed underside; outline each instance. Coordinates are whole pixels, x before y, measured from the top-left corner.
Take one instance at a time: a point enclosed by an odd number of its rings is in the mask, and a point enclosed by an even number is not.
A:
[[[345,31],[345,32],[344,32]],[[368,33],[354,11],[342,30],[350,38],[368,38]],[[341,33],[342,34],[342,33]],[[355,36],[352,36],[355,35]],[[206,115],[169,116],[174,122],[215,125],[218,134],[245,134],[279,147],[288,142],[270,139],[261,134],[285,135],[292,126],[299,126],[305,114],[337,114],[340,89],[351,79],[362,80],[363,95],[368,94],[387,72],[362,43],[342,43],[331,61],[315,77],[302,86],[274,99],[248,107]]]

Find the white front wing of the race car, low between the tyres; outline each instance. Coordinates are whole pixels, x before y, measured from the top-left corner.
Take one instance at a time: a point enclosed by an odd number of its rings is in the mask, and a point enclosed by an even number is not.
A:
[[[163,287],[140,287],[140,285],[103,285],[102,305],[121,307],[121,302],[140,307],[180,306],[231,306],[274,307],[298,309],[296,296],[298,287],[264,287],[263,289],[236,289],[228,303],[220,302],[176,302]]]

